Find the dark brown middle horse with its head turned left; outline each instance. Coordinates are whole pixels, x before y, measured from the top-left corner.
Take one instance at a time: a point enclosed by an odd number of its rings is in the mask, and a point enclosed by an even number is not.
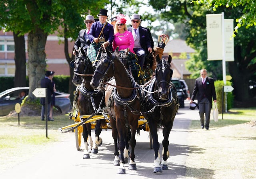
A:
[[[118,147],[117,135],[119,137],[119,149],[121,154],[119,174],[125,173],[124,163],[125,158],[128,158],[128,142],[131,145],[129,170],[136,170],[136,163],[134,161],[134,149],[136,145],[135,134],[138,127],[138,120],[140,117],[140,97],[138,87],[126,71],[126,68],[118,58],[120,52],[118,48],[111,54],[109,51],[103,53],[97,68],[92,77],[91,86],[98,88],[102,82],[110,77],[114,80],[108,81],[105,86],[105,103],[108,109],[110,123],[112,127],[112,137],[115,144],[115,160],[118,161]],[[131,135],[131,136],[129,136]],[[128,139],[130,138],[130,141]]]

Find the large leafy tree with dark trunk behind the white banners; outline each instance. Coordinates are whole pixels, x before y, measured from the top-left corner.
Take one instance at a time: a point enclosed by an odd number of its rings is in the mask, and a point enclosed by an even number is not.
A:
[[[217,2],[214,1],[214,2]],[[221,2],[221,0],[219,0]],[[198,56],[190,63],[188,69],[191,72],[198,72],[200,68],[206,68],[212,72],[216,79],[222,74],[221,61],[207,61],[206,47],[206,14],[220,14],[224,12],[225,18],[236,19],[245,16],[244,8],[248,5],[209,7],[208,4],[193,4],[188,0],[150,0],[154,9],[162,12],[166,19],[174,22],[182,22],[186,26],[184,31],[189,32],[186,42],[198,51]],[[252,7],[253,8],[253,7]],[[215,11],[214,11],[215,10]],[[246,11],[247,12],[247,11]],[[253,19],[253,18],[252,18]],[[228,73],[232,76],[235,99],[238,101],[249,101],[248,80],[256,75],[256,43],[254,34],[255,26],[247,28],[241,26],[239,33],[234,39],[234,62],[227,62]],[[199,65],[197,65],[199,63]]]

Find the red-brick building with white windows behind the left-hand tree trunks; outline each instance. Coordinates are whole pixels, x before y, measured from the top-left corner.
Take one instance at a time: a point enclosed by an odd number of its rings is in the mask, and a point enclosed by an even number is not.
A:
[[[28,37],[25,35],[26,60],[28,60]],[[74,42],[68,44],[68,52],[72,53]],[[56,75],[70,75],[69,64],[64,54],[64,39],[56,34],[49,35],[45,46],[46,69],[54,70]],[[0,31],[0,76],[14,76],[14,38],[12,32]]]

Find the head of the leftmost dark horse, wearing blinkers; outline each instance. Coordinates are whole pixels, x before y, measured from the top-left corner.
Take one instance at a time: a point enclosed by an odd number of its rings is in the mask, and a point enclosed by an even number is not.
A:
[[[75,60],[70,62],[70,67],[74,68],[73,84],[79,86],[82,84],[82,75],[83,74],[93,74],[92,63],[89,58],[86,56],[84,50],[81,48],[81,53],[75,50],[76,56]]]

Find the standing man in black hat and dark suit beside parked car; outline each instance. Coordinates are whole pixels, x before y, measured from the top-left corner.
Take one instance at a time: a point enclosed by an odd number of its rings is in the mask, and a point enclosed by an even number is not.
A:
[[[41,80],[41,88],[47,88],[47,103],[48,103],[48,108],[47,108],[47,120],[48,121],[53,121],[53,119],[50,119],[50,107],[52,103],[52,94],[54,93],[53,91],[53,86],[52,86],[52,81],[49,79],[49,76],[52,75],[51,71],[46,71],[45,77]],[[40,103],[42,104],[42,109],[41,109],[41,120],[44,121],[44,114],[45,114],[45,97],[40,98]]]

